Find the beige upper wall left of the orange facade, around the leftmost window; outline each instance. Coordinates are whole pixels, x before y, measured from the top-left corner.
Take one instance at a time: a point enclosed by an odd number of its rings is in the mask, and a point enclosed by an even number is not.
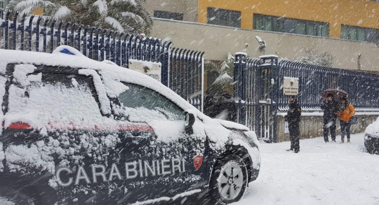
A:
[[[143,6],[153,16],[154,10],[182,13],[183,20],[197,22],[197,0],[146,0]]]

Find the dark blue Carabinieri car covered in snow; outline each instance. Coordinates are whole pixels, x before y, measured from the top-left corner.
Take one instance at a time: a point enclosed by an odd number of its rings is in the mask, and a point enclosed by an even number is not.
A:
[[[254,132],[211,119],[152,78],[60,46],[0,50],[0,202],[238,201],[257,178]]]

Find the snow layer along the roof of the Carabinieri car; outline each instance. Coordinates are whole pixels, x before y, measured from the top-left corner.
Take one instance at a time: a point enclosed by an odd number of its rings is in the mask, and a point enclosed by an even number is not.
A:
[[[68,50],[73,54],[65,54],[56,52],[57,50]],[[59,46],[53,54],[30,52],[30,51],[15,51],[0,49],[0,74],[5,74],[5,65],[9,63],[28,63],[36,65],[48,66],[64,66],[73,68],[93,69],[100,73],[112,76],[113,80],[122,80],[126,83],[135,83],[146,88],[157,90],[159,93],[174,101],[179,107],[184,110],[194,109],[185,99],[179,97],[174,91],[165,87],[163,84],[152,80],[149,76],[139,72],[112,65],[110,63],[99,62],[84,57],[79,51],[69,46]],[[104,80],[104,79],[103,79]],[[107,79],[105,79],[107,80]],[[112,89],[106,88],[107,93],[112,92]],[[110,93],[112,94],[112,93]],[[201,112],[197,115],[204,117]]]

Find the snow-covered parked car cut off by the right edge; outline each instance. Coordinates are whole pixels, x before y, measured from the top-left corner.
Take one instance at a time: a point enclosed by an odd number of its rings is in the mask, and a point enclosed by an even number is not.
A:
[[[365,130],[365,147],[367,152],[379,154],[379,117]]]

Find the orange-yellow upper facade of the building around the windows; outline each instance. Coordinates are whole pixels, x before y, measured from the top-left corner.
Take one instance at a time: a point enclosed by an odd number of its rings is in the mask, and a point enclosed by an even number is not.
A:
[[[240,12],[240,28],[254,28],[254,14],[328,23],[341,38],[342,25],[379,29],[379,2],[373,0],[198,0],[198,23],[207,24],[208,8]]]

